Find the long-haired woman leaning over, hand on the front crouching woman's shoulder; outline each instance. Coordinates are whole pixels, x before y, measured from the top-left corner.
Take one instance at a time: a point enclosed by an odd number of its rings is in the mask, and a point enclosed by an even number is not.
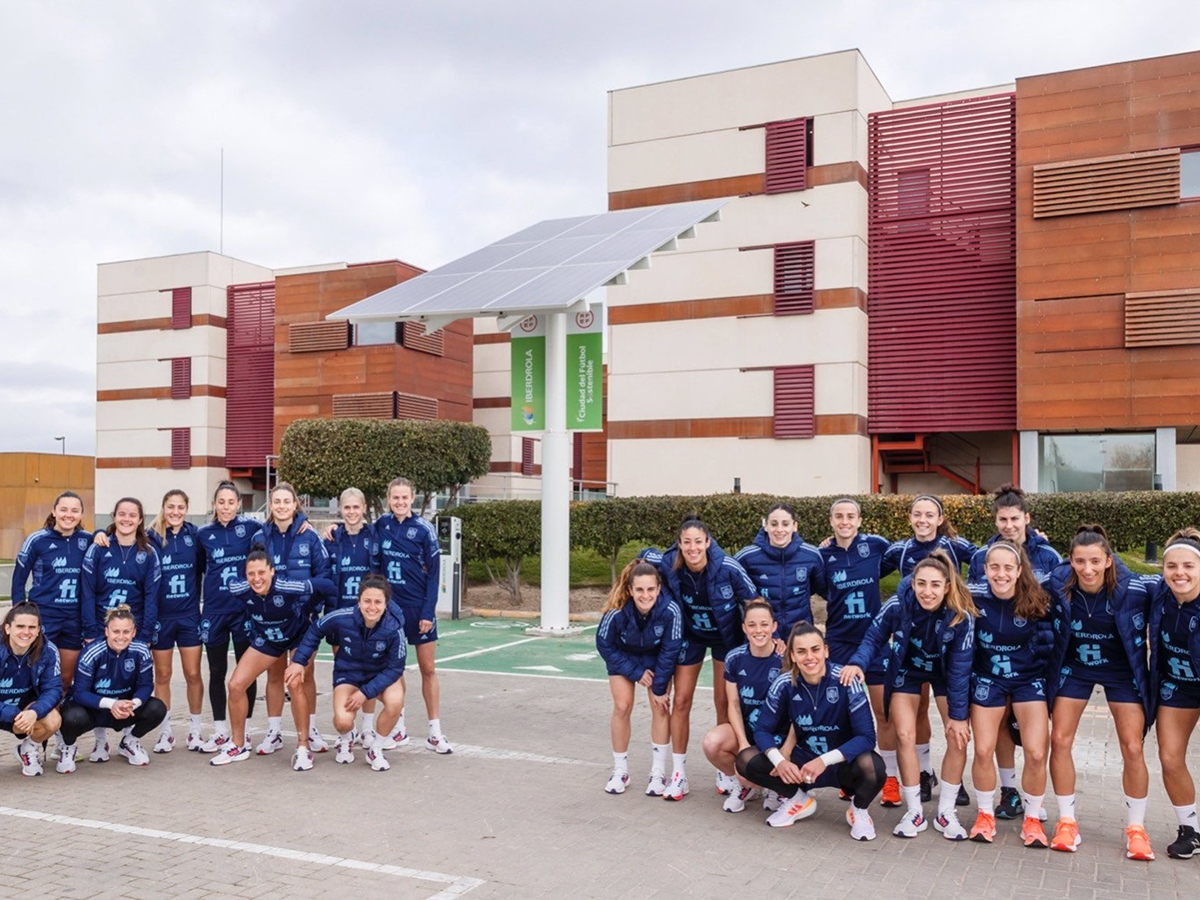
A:
[[[936,550],[900,582],[896,595],[880,611],[850,665],[842,684],[863,680],[864,668],[881,650],[888,654],[883,706],[896,731],[901,794],[907,812],[893,833],[916,838],[926,828],[920,800],[920,764],[917,757],[917,708],[925,685],[937,700],[946,725],[942,792],[934,827],[948,840],[964,840],[955,800],[967,761],[971,676],[976,607],[950,557]]]

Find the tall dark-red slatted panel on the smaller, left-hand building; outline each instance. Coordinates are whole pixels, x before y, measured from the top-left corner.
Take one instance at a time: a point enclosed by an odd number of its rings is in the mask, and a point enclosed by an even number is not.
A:
[[[262,468],[274,452],[275,282],[230,284],[226,300],[226,464]]]

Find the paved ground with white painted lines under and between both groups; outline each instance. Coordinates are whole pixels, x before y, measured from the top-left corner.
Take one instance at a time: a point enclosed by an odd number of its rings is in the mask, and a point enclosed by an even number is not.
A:
[[[120,757],[23,779],[0,737],[0,896],[310,898],[1078,898],[1194,900],[1200,858],[1166,858],[1170,808],[1152,784],[1148,828],[1159,859],[1123,854],[1120,751],[1103,706],[1084,719],[1076,761],[1084,845],[1075,854],[1027,851],[1001,823],[994,846],[952,844],[932,830],[890,836],[899,810],[877,810],[880,838],[854,844],[845,805],[817,793],[820,811],[782,830],[755,808],[721,811],[698,738],[713,720],[702,694],[683,803],[647,798],[648,714],[638,701],[631,790],[604,793],[608,691],[583,656],[592,634],[558,642],[516,629],[443,623],[443,722],[457,746],[410,746],[373,773],[332,754],[293,773],[289,754],[223,769],[176,749],[145,769]],[[480,636],[485,635],[486,636]],[[485,650],[479,653],[479,650]],[[460,654],[473,654],[462,656]],[[522,668],[524,666],[524,668]],[[529,666],[551,666],[560,672]],[[328,664],[322,664],[323,686]],[[424,734],[419,676],[409,676],[409,725]],[[176,704],[182,684],[176,685]],[[176,734],[186,721],[176,706]],[[262,704],[256,712],[258,733]],[[329,732],[328,696],[320,698]],[[150,739],[152,740],[152,738]],[[149,742],[148,742],[149,743]],[[86,752],[90,738],[80,739]],[[289,744],[290,750],[290,744]],[[1153,758],[1151,737],[1147,755]],[[1200,772],[1200,742],[1193,751]],[[1157,773],[1157,763],[1151,762]],[[1153,781],[1153,779],[1152,779]],[[1051,803],[1051,812],[1054,812]],[[970,818],[973,811],[964,811]]]

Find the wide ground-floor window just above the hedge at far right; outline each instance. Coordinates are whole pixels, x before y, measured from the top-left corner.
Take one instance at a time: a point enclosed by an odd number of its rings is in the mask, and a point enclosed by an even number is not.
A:
[[[1152,491],[1154,436],[1040,434],[1038,490]]]

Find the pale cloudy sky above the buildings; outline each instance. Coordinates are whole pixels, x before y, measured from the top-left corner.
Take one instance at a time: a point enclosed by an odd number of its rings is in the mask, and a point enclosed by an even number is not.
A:
[[[0,0],[0,450],[95,448],[96,264],[432,268],[605,208],[605,91],[858,47],[893,98],[1200,49],[1183,2]]]

